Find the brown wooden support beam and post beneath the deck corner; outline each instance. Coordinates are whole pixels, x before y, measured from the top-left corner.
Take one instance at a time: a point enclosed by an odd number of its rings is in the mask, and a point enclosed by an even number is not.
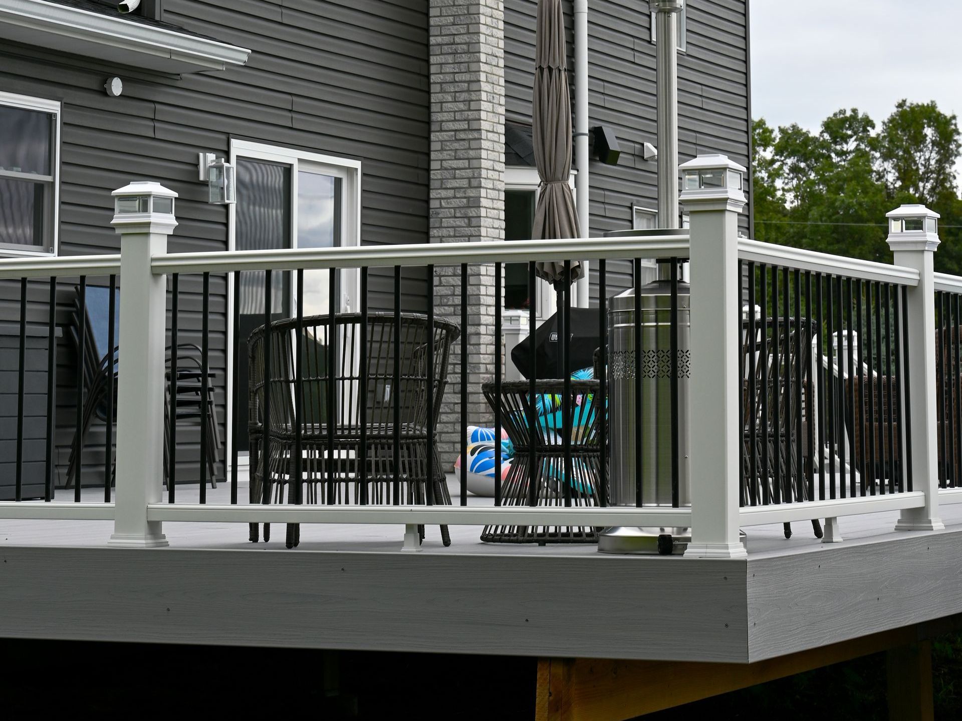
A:
[[[909,626],[756,663],[538,659],[535,719],[624,721],[888,651],[890,718],[923,721],[932,718],[931,644],[920,640],[926,634]]]

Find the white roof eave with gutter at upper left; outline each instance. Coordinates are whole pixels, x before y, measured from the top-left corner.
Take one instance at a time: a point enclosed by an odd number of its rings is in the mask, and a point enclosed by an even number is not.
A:
[[[250,50],[44,0],[0,0],[0,37],[161,72],[223,70]]]

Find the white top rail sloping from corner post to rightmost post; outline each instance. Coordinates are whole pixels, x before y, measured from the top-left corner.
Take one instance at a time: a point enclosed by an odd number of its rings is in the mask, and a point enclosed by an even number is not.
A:
[[[738,240],[738,257],[742,261],[764,262],[798,270],[810,270],[813,273],[859,278],[863,281],[895,283],[899,286],[919,285],[919,271],[915,268],[833,256],[830,253],[763,243],[744,237]]]

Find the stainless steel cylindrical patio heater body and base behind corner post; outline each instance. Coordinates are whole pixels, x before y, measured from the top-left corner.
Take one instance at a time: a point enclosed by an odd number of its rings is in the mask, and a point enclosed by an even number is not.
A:
[[[682,233],[681,230],[618,231],[608,236]],[[675,277],[681,278],[680,267]],[[678,280],[674,367],[671,363],[671,262],[660,262],[658,279],[639,291],[640,303],[636,304],[635,289],[630,288],[612,298],[608,309],[609,503],[635,507],[640,497],[643,508],[690,506],[691,290],[687,283]],[[641,318],[636,323],[639,306]],[[637,345],[636,334],[641,336]],[[639,347],[640,363],[636,353]],[[672,375],[677,404],[674,413]],[[676,440],[672,434],[677,434]],[[677,466],[672,463],[675,444]],[[691,531],[687,528],[616,527],[598,535],[598,551],[668,555],[683,552],[690,540]]]

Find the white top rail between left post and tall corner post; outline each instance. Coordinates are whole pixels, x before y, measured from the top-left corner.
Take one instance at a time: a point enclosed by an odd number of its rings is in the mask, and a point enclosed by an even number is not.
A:
[[[687,258],[689,236],[628,236],[559,240],[410,243],[343,248],[168,253],[153,260],[154,273],[223,273],[236,270],[456,265],[463,262],[569,261],[579,258]]]

